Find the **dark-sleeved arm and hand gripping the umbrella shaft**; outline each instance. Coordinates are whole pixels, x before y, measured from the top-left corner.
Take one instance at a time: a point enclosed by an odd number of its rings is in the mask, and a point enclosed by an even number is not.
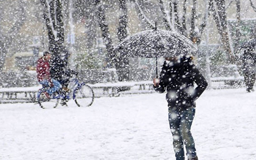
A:
[[[167,67],[165,66],[165,62],[164,65],[162,67],[161,70],[161,74],[160,74],[160,82],[158,86],[154,86],[154,90],[158,93],[164,93],[164,91],[166,90],[166,87],[169,83],[169,76],[167,74]]]

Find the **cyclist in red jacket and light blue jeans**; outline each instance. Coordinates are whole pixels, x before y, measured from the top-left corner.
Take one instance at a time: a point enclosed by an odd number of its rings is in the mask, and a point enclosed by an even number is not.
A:
[[[45,96],[50,99],[50,95],[61,88],[61,84],[50,76],[50,60],[51,54],[48,51],[43,53],[43,57],[39,58],[36,65],[37,80],[44,88],[46,88]]]

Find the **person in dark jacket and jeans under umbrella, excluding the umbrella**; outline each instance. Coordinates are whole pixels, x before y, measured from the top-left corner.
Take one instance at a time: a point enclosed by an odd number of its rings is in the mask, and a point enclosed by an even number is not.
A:
[[[198,160],[190,128],[195,115],[195,101],[207,88],[207,81],[192,60],[193,57],[189,55],[165,58],[160,77],[153,79],[155,91],[167,91],[169,125],[176,160],[185,159],[184,145],[188,160]]]

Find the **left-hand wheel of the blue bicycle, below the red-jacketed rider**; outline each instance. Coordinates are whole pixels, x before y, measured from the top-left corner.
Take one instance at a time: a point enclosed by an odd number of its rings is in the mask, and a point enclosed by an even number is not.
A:
[[[46,97],[44,92],[39,91],[37,96],[37,102],[42,109],[49,107],[56,108],[59,103],[59,99],[49,99]]]

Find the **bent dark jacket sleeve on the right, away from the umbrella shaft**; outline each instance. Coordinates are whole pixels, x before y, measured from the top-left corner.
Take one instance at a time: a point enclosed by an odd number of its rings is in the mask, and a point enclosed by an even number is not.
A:
[[[197,84],[197,87],[194,90],[193,99],[196,100],[201,96],[203,91],[207,88],[208,83],[203,75],[199,72],[196,66],[193,64],[191,69],[191,76],[194,82]]]

